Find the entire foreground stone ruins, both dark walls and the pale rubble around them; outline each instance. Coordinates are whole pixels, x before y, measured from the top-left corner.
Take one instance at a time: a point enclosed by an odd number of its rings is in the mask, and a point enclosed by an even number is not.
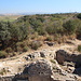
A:
[[[25,55],[24,59],[28,63],[21,73],[2,77],[0,81],[78,81],[81,70],[76,68],[76,65],[81,66],[81,55],[70,54],[65,50],[58,50],[56,54],[53,50],[42,50]]]

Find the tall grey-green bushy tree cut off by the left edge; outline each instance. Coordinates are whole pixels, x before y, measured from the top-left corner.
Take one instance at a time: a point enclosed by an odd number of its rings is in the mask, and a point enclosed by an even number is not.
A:
[[[9,23],[0,22],[0,42],[2,43],[2,49],[8,45],[11,39],[11,32]]]

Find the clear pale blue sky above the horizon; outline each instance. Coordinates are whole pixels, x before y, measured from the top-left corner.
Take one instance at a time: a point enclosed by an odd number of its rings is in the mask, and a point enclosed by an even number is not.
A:
[[[0,0],[0,14],[69,12],[81,12],[81,0]]]

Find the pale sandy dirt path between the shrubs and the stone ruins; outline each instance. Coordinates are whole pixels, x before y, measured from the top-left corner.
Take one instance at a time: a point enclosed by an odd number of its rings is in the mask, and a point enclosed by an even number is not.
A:
[[[41,46],[37,51],[29,51],[29,52],[23,53],[21,55],[14,56],[14,57],[0,59],[0,73],[1,73],[1,71],[3,71],[3,69],[5,69],[6,72],[3,73],[2,76],[11,76],[11,75],[16,75],[17,72],[22,72],[25,65],[30,63],[30,62],[27,62],[24,57],[33,52],[40,52],[42,50],[53,51],[53,52],[56,52],[57,50],[65,50],[65,51],[71,52],[71,53],[77,52],[77,46],[79,44],[81,44],[81,41],[77,40],[77,39],[68,40],[68,41],[70,43],[55,44],[53,46],[43,44],[43,46]]]

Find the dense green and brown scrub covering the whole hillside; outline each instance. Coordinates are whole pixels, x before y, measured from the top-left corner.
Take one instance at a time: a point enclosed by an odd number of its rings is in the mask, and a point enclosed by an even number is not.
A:
[[[65,37],[81,39],[81,14],[36,14],[0,22],[0,57],[37,50],[42,45],[39,40],[64,42]]]

